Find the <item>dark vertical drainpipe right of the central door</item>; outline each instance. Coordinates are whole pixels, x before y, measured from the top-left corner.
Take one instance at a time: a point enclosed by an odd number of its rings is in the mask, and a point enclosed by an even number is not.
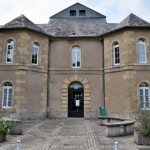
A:
[[[104,39],[101,37],[102,48],[102,107],[105,108],[105,72],[104,72]]]

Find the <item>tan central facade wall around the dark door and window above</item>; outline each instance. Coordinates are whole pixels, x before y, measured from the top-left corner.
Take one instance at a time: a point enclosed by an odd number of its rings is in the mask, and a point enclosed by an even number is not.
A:
[[[71,50],[81,49],[81,68],[72,68]],[[102,101],[102,55],[98,39],[57,39],[51,43],[50,117],[68,117],[68,87],[84,87],[84,117],[96,118]]]

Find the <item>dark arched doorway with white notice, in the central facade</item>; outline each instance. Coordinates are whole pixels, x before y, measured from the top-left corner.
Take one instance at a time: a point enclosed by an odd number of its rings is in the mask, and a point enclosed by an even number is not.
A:
[[[79,82],[68,88],[68,117],[84,117],[84,88]]]

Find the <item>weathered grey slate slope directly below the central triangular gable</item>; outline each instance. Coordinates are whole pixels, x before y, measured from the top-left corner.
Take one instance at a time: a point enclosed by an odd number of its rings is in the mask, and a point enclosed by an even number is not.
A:
[[[104,33],[106,28],[105,19],[51,19],[47,33],[56,37],[89,37]]]

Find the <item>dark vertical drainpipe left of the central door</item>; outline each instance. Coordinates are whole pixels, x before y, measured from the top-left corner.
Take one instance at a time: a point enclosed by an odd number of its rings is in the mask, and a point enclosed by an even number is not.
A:
[[[46,102],[46,118],[49,118],[49,98],[50,98],[50,61],[51,61],[51,39],[49,39],[48,46],[48,69],[47,69],[47,102]]]

